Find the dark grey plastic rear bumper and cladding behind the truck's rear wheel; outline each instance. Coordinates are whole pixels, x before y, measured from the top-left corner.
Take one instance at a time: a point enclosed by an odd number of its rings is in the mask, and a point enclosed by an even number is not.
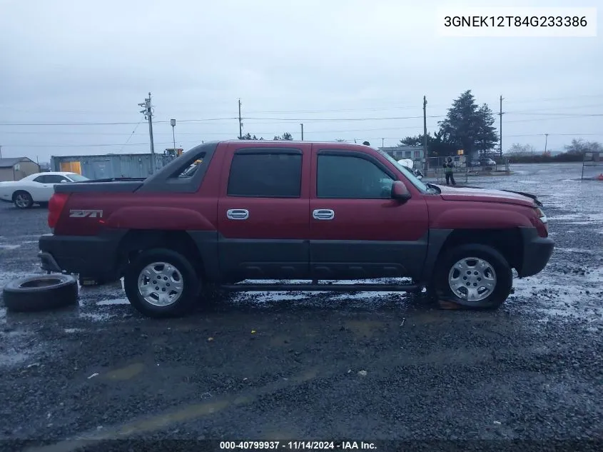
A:
[[[118,276],[118,245],[123,233],[102,236],[55,236],[39,239],[38,257],[44,271],[78,273],[90,277]]]

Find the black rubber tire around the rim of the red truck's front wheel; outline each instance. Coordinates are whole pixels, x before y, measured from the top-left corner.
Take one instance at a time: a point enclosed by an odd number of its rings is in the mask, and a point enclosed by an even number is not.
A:
[[[479,301],[467,301],[466,298],[458,296],[457,293],[452,291],[448,282],[452,267],[463,258],[480,258],[489,263],[495,271],[496,283],[494,290]],[[467,276],[467,278],[474,278],[474,276]],[[479,282],[471,283],[474,286],[479,284]],[[510,295],[513,287],[513,273],[505,257],[495,248],[477,243],[461,245],[450,249],[441,257],[440,264],[435,271],[433,287],[440,302],[451,302],[470,309],[495,309],[501,306]],[[479,289],[479,286],[477,288]]]

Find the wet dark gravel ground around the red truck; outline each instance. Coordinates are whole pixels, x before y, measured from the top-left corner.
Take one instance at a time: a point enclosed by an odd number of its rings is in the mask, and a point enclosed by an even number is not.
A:
[[[242,293],[153,321],[119,284],[81,288],[61,311],[0,307],[0,448],[33,439],[71,451],[65,440],[87,437],[597,450],[587,440],[603,441],[603,183],[575,181],[580,168],[470,180],[538,194],[557,241],[549,266],[516,280],[496,312],[399,293]],[[39,272],[46,232],[46,209],[0,206],[0,286]]]

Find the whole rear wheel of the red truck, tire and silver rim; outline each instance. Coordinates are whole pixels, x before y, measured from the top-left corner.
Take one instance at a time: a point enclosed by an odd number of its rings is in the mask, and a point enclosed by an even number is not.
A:
[[[163,248],[138,254],[123,277],[131,305],[154,318],[178,317],[191,311],[200,284],[186,257]]]

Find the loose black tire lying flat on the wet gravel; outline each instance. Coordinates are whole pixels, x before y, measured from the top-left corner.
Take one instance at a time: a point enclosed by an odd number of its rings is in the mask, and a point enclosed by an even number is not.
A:
[[[78,283],[74,276],[61,273],[29,276],[6,284],[2,298],[13,312],[62,308],[77,303]]]

